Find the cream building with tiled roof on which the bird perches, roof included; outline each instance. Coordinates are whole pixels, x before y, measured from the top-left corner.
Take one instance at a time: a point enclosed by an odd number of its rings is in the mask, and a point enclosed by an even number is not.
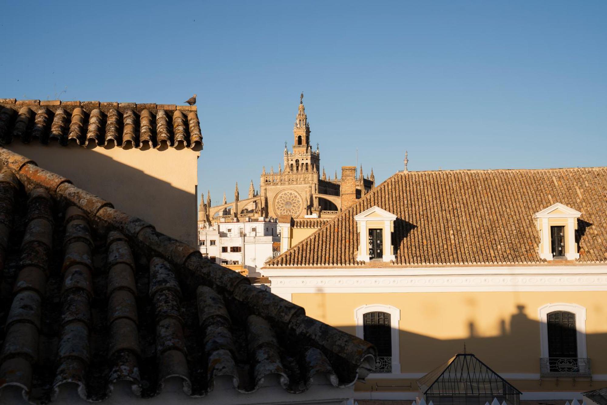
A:
[[[0,99],[0,144],[196,246],[196,106]]]

